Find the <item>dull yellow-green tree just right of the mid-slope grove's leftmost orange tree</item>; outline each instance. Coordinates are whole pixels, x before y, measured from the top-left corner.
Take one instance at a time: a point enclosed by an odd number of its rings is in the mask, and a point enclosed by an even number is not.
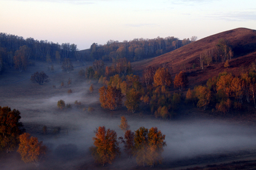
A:
[[[133,113],[139,109],[140,106],[140,92],[136,91],[134,88],[130,89],[126,93],[126,101],[124,102],[124,105],[129,111],[132,111]]]

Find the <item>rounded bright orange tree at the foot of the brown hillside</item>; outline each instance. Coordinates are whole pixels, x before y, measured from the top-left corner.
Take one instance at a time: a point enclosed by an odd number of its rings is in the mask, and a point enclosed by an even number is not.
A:
[[[170,76],[169,70],[167,68],[158,68],[154,76],[154,84],[156,86],[166,86],[170,87],[172,85],[172,77]]]

